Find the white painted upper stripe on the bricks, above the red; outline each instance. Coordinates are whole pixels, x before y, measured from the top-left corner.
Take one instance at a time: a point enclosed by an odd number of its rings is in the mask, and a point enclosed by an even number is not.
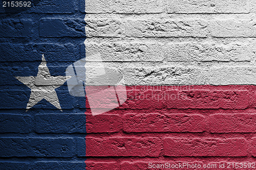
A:
[[[126,85],[256,85],[254,0],[86,4],[88,67],[99,53]]]

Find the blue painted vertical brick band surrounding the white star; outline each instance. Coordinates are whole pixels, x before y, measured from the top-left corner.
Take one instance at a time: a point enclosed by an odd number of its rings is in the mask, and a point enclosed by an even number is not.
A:
[[[69,95],[65,83],[56,89],[62,112],[46,100],[26,111],[31,90],[15,79],[36,76],[42,54],[52,76],[66,76],[84,58],[84,2],[32,4],[3,8],[1,1],[0,169],[86,169],[77,144],[86,137],[85,98]]]

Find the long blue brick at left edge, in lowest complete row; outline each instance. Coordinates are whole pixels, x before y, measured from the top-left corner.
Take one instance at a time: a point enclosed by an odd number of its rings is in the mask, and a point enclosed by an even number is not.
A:
[[[1,157],[73,157],[73,138],[0,138]]]

